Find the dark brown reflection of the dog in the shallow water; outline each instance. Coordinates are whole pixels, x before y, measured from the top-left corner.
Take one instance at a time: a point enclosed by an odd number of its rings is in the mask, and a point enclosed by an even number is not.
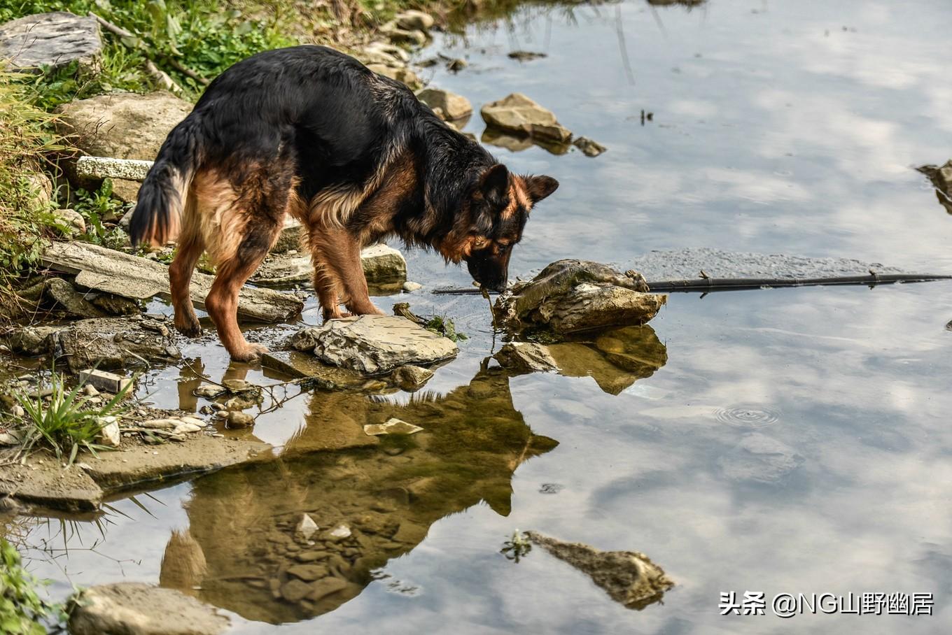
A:
[[[558,445],[529,430],[508,381],[484,368],[406,404],[313,394],[307,426],[280,458],[195,481],[161,584],[249,620],[300,621],[358,595],[447,514],[485,501],[507,515],[513,471]],[[391,417],[424,432],[364,433]]]

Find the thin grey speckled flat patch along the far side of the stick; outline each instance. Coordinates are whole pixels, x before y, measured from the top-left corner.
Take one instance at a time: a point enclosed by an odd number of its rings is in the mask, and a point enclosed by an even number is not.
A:
[[[628,263],[648,280],[702,278],[812,279],[901,274],[902,270],[880,262],[845,258],[803,258],[785,254],[730,252],[706,247],[673,251],[652,251]],[[650,283],[649,283],[650,286]]]

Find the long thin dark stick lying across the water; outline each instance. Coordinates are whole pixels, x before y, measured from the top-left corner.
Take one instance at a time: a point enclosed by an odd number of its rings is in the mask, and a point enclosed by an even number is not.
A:
[[[690,280],[658,280],[648,282],[652,293],[710,293],[712,291],[742,291],[764,287],[808,287],[826,285],[896,284],[898,282],[927,282],[948,280],[947,274],[870,274],[868,276],[838,276],[832,278],[699,278]],[[469,296],[482,293],[479,289],[434,289],[439,296]]]

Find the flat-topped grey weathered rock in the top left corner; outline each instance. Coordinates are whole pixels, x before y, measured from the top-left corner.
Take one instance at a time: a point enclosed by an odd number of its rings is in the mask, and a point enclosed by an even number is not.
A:
[[[95,18],[54,11],[0,26],[0,59],[9,60],[12,68],[59,68],[78,62],[95,70],[102,52]]]

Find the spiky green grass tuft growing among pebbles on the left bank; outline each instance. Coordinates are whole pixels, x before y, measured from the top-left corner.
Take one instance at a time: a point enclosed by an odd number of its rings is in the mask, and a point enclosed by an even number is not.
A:
[[[95,443],[95,440],[109,422],[126,411],[120,402],[129,393],[131,384],[129,382],[98,409],[86,408],[89,397],[80,396],[82,383],[77,383],[67,392],[62,376],[55,369],[50,378],[49,403],[40,393],[30,395],[22,390],[14,392],[13,398],[23,407],[23,418],[27,423],[23,452],[30,452],[37,443],[46,443],[59,460],[69,454],[68,462],[72,465],[80,449],[88,450],[93,455],[96,455],[97,450],[109,450]]]

